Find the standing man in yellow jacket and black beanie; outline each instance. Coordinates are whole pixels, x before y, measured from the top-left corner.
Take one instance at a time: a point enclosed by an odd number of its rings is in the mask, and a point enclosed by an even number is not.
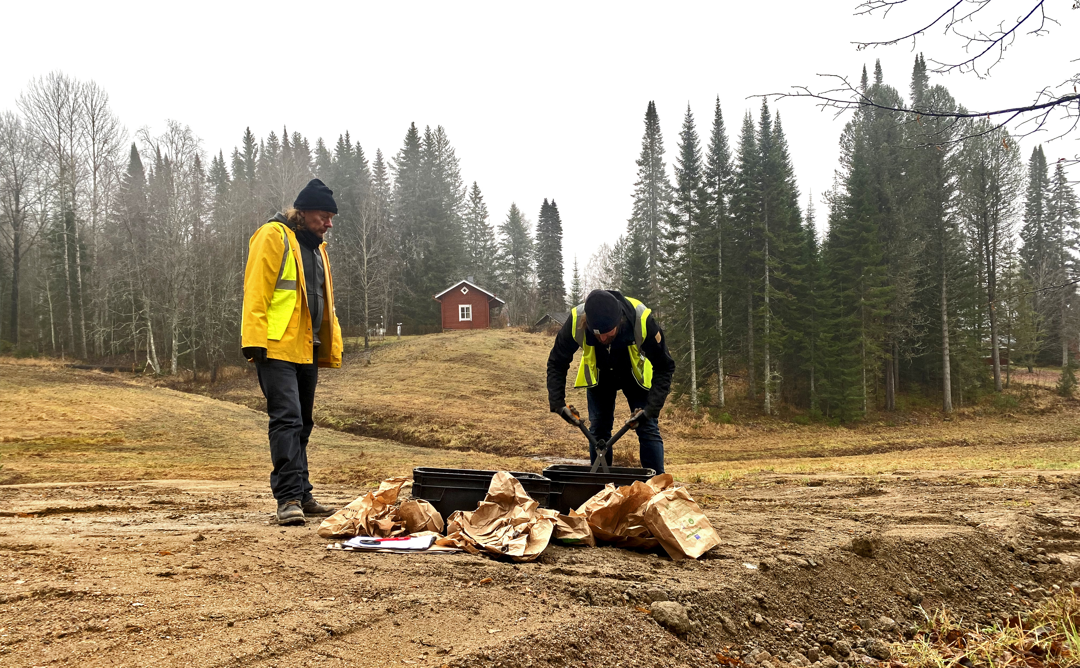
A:
[[[280,524],[329,515],[311,495],[308,437],[319,367],[341,366],[341,327],[323,234],[337,215],[334,191],[311,179],[293,208],[248,242],[244,270],[244,357],[255,363],[270,415],[270,489]]]

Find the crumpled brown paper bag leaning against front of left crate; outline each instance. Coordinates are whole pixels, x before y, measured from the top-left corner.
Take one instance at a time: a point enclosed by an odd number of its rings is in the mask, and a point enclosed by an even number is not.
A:
[[[555,520],[512,475],[500,471],[475,510],[455,510],[446,522],[447,537],[458,534],[480,550],[531,561],[548,547]]]

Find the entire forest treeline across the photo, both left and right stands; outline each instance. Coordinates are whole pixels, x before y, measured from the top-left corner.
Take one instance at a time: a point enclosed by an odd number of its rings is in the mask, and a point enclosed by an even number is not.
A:
[[[880,66],[861,90],[886,107],[959,108],[921,57],[906,100]],[[626,231],[581,271],[575,258],[567,289],[555,201],[535,224],[516,204],[494,221],[441,126],[410,125],[389,158],[349,133],[312,145],[247,129],[207,160],[181,123],[132,137],[104,91],[53,73],[0,115],[0,340],[163,373],[239,359],[247,240],[319,177],[339,206],[330,258],[353,335],[437,330],[432,295],[467,275],[507,301],[511,325],[619,288],[658,312],[677,400],[724,408],[738,379],[764,412],[840,420],[900,392],[948,411],[1017,365],[1069,363],[1078,205],[1061,164],[1041,147],[1025,160],[983,120],[882,109],[856,112],[839,148],[819,236],[768,105],[733,142],[718,98],[702,135],[688,107],[669,156],[649,103]]]

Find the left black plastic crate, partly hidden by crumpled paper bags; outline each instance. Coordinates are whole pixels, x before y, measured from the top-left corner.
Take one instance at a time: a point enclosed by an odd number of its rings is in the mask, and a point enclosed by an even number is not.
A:
[[[455,510],[475,510],[487,496],[494,471],[472,468],[428,468],[413,469],[413,497],[423,499],[435,506],[443,520]],[[536,473],[510,472],[517,478],[525,492],[546,508],[551,496],[551,480]]]

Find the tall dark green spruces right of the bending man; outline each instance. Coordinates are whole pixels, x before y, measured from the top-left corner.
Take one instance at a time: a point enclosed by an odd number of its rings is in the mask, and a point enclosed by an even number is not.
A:
[[[880,64],[860,90],[904,107]],[[959,108],[921,56],[908,95],[915,109]],[[660,309],[676,393],[694,409],[725,407],[738,377],[739,398],[766,413],[852,420],[894,409],[897,392],[948,412],[1000,392],[1016,365],[1070,364],[1076,194],[1061,163],[1051,173],[1036,147],[1025,166],[988,121],[856,112],[821,237],[764,103],[733,149],[718,98],[704,139],[688,107],[671,173],[650,104],[637,165],[626,233],[586,275]]]

